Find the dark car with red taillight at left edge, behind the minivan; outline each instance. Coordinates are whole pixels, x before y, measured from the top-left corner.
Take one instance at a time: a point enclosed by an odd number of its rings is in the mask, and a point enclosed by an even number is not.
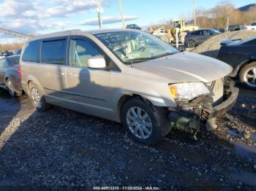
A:
[[[0,60],[0,87],[9,90],[10,95],[22,95],[19,67],[20,55],[4,57]]]

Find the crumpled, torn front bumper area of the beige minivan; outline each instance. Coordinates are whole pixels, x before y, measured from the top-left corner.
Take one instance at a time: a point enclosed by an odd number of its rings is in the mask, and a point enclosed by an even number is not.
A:
[[[189,103],[179,103],[178,109],[170,111],[168,118],[171,122],[189,128],[199,128],[214,117],[219,117],[230,110],[238,98],[239,89],[234,87],[231,79],[225,79],[222,103],[213,106],[211,96],[202,96]]]

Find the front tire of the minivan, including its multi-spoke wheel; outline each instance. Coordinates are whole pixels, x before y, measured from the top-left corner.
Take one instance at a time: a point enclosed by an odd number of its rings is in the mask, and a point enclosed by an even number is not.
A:
[[[171,129],[167,112],[146,104],[140,98],[131,98],[124,104],[121,122],[133,140],[148,145],[162,141]]]

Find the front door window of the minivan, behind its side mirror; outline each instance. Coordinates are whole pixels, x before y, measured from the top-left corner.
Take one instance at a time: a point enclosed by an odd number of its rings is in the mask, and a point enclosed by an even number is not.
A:
[[[104,56],[102,50],[90,40],[71,39],[69,48],[69,66],[87,67],[89,58]]]

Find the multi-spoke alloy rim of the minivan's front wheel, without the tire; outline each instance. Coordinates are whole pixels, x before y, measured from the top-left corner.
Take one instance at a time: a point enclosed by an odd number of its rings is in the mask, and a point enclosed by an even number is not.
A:
[[[132,134],[139,139],[147,139],[152,133],[152,122],[147,112],[139,106],[127,111],[127,125]]]

